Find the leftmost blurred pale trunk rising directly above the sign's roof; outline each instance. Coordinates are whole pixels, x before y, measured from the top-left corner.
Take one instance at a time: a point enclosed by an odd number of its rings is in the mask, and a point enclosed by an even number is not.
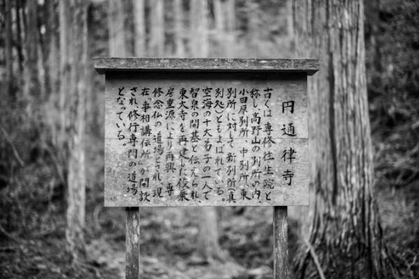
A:
[[[109,55],[126,57],[124,1],[108,0]]]

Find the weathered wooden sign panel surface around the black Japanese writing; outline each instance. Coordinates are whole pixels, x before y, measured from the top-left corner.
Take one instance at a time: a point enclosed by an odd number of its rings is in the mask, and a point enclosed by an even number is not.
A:
[[[191,163],[189,160],[184,160],[184,169],[186,169],[186,175],[182,174],[179,175],[179,161],[182,159],[179,156],[179,151],[181,150],[182,146],[177,145],[179,137],[182,135],[187,135],[188,139],[190,140],[191,132],[193,129],[190,128],[189,123],[193,121],[193,116],[189,115],[186,116],[184,120],[177,118],[175,119],[160,119],[159,121],[163,121],[163,125],[160,128],[156,127],[156,120],[152,120],[150,117],[150,121],[147,122],[149,126],[152,128],[152,133],[156,133],[156,131],[161,132],[161,138],[163,139],[162,149],[164,151],[161,155],[157,155],[153,153],[154,147],[156,144],[153,142],[151,143],[151,147],[148,148],[151,153],[147,158],[139,158],[135,160],[137,164],[135,168],[131,165],[130,161],[128,160],[128,150],[132,149],[133,147],[130,146],[130,143],[127,141],[128,133],[125,133],[125,138],[123,140],[119,140],[117,135],[119,134],[119,130],[128,128],[130,126],[131,121],[124,121],[120,120],[119,116],[117,115],[118,110],[120,109],[120,105],[117,105],[117,98],[119,89],[124,87],[128,91],[124,91],[125,96],[127,98],[131,98],[131,92],[129,91],[130,88],[133,86],[138,87],[137,92],[134,94],[138,101],[138,111],[140,111],[141,103],[145,100],[148,100],[149,103],[153,103],[156,98],[154,96],[140,96],[139,91],[142,88],[147,87],[150,88],[150,92],[155,87],[161,87],[163,91],[167,91],[168,88],[172,87],[175,88],[175,92],[178,92],[180,88],[190,89],[192,87],[212,87],[212,88],[227,88],[230,86],[235,86],[237,88],[258,88],[258,89],[265,89],[267,87],[272,89],[272,97],[270,99],[270,109],[272,110],[272,117],[270,117],[269,121],[272,123],[272,139],[274,140],[274,144],[272,146],[262,147],[260,151],[256,153],[247,154],[246,160],[251,160],[251,156],[260,156],[263,158],[265,151],[272,151],[272,155],[274,156],[274,160],[269,162],[262,162],[259,166],[251,166],[248,170],[244,171],[249,175],[249,178],[252,176],[253,170],[261,170],[263,171],[267,165],[272,167],[272,175],[263,176],[261,175],[262,179],[253,179],[253,181],[259,181],[260,184],[254,184],[253,182],[244,183],[240,182],[240,175],[243,172],[239,172],[240,168],[240,150],[242,148],[246,148],[249,151],[252,149],[253,144],[251,143],[253,140],[253,135],[251,135],[251,131],[249,131],[249,136],[247,137],[237,137],[239,135],[237,124],[237,132],[235,132],[234,144],[231,146],[228,144],[228,117],[230,117],[230,121],[232,119],[236,119],[238,123],[239,116],[234,116],[233,112],[237,112],[236,110],[224,110],[220,112],[220,114],[216,114],[216,110],[212,110],[212,115],[207,116],[207,119],[210,119],[212,122],[207,126],[210,128],[212,137],[205,138],[203,135],[203,127],[200,127],[199,130],[199,137],[201,139],[198,142],[198,146],[196,147],[197,153],[189,153],[190,155],[195,155],[196,157],[200,158],[202,161],[206,153],[210,153],[210,156],[213,158],[210,163],[207,164],[210,167],[213,179],[205,180],[203,174],[205,172],[204,166],[205,164],[201,163],[195,165],[195,163]],[[263,93],[261,90],[260,92]],[[213,94],[214,95],[214,94]],[[124,97],[125,97],[124,96]],[[191,103],[191,96],[187,99],[187,105]],[[166,104],[168,97],[161,96],[159,100],[163,100],[163,103]],[[179,97],[176,95],[174,101],[175,107],[179,107]],[[154,100],[153,100],[154,99]],[[238,99],[238,98],[237,98]],[[203,126],[203,120],[205,118],[202,117],[203,113],[207,110],[201,110],[201,104],[203,102],[202,93],[198,93],[196,96],[196,100],[200,104],[200,109],[196,112],[200,114],[199,118],[201,119],[201,126]],[[226,102],[226,96],[223,98],[219,97],[217,100],[223,100]],[[250,97],[249,97],[250,100]],[[282,103],[284,100],[295,100],[295,112],[291,113],[283,113],[282,112]],[[237,100],[239,103],[240,100]],[[256,104],[265,104],[265,100],[263,96],[258,97],[258,100],[255,100]],[[251,122],[251,118],[253,117],[253,112],[260,112],[262,113],[263,110],[258,111],[258,108],[253,107],[254,103],[249,105],[249,123]],[[240,105],[237,105],[240,107]],[[126,110],[124,110],[124,114],[126,115],[128,112],[132,110],[130,105],[126,105]],[[157,109],[156,109],[157,110]],[[284,75],[280,73],[265,75],[265,74],[250,74],[250,73],[242,73],[238,75],[237,73],[171,73],[168,75],[162,75],[161,73],[136,73],[136,74],[118,74],[118,75],[110,75],[106,74],[106,93],[105,93],[105,206],[274,206],[274,205],[304,205],[308,204],[308,130],[307,130],[307,75],[305,74],[293,74],[293,75]],[[161,111],[162,115],[167,115],[166,112],[163,110]],[[151,113],[152,114],[152,113]],[[176,110],[175,115],[179,114],[179,110]],[[228,116],[229,115],[229,116]],[[223,150],[225,153],[222,155],[223,157],[223,166],[221,167],[222,170],[219,173],[214,173],[214,169],[219,168],[220,166],[216,166],[216,162],[214,162],[214,158],[218,156],[215,152],[215,146],[217,145],[217,124],[216,124],[216,116],[222,116],[220,129],[221,134],[223,135],[223,140],[221,140],[220,145],[224,146]],[[126,116],[122,116],[124,119]],[[266,120],[266,119],[265,119]],[[136,120],[140,123],[140,120]],[[184,124],[184,132],[181,131],[180,125]],[[263,128],[265,121],[260,123]],[[297,136],[296,137],[288,137],[287,135],[283,135],[281,128],[284,125],[288,125],[288,123],[294,123]],[[119,128],[118,128],[118,126]],[[140,123],[140,125],[144,126],[144,123]],[[254,124],[253,124],[254,125]],[[125,127],[125,128],[121,128]],[[167,128],[168,127],[168,128]],[[139,128],[140,129],[140,128]],[[249,126],[249,130],[250,126]],[[260,132],[263,134],[263,132]],[[124,133],[121,133],[122,135]],[[131,134],[131,133],[130,133]],[[142,142],[142,140],[147,140],[146,137],[142,137],[140,135],[140,131],[136,134],[138,137],[138,142]],[[166,154],[168,153],[168,141],[166,140],[168,136],[171,135],[173,138],[173,146],[171,147],[171,151],[174,155],[174,162],[177,163],[177,171],[176,172],[163,172],[163,168],[166,165]],[[263,135],[260,135],[258,138],[263,139]],[[214,146],[212,151],[205,151],[204,149],[204,141],[210,140],[211,144]],[[153,135],[149,137],[149,140],[153,141]],[[138,149],[138,154],[142,153],[142,151],[147,151],[147,148],[142,147],[135,147]],[[189,142],[186,145],[186,148],[192,152],[193,147]],[[286,149],[294,149],[297,153],[295,154],[295,160],[292,163],[288,163],[288,161],[284,161],[281,159],[282,153]],[[237,155],[237,161],[231,165],[237,168],[237,172],[235,174],[227,174],[226,169],[228,169],[228,164],[226,164],[226,156],[228,152],[235,153]],[[139,156],[140,157],[140,156]],[[161,180],[154,180],[152,181],[153,174],[156,173],[157,168],[155,167],[156,161],[160,161],[159,167],[159,175]],[[146,169],[145,172],[142,172],[141,169]],[[197,172],[192,171],[191,169],[196,169]],[[288,185],[287,181],[284,180],[283,174],[286,169],[289,169],[293,172],[293,183],[292,185]],[[136,171],[138,176],[138,180],[141,178],[149,178],[149,184],[147,183],[146,188],[140,186],[138,188],[138,192],[133,194],[130,188],[131,183],[128,183],[128,175]],[[193,176],[191,172],[194,172],[196,176]],[[142,173],[142,176],[140,176]],[[182,186],[179,186],[178,181],[179,179],[184,178],[189,181],[188,185],[190,188],[182,188],[184,185],[182,182]],[[270,179],[272,182],[272,188],[263,188],[264,179]],[[193,180],[196,184],[193,183]],[[233,187],[234,195],[235,195],[235,202],[231,202],[228,200],[228,193],[230,193],[230,188],[228,181],[235,180],[235,186]],[[251,180],[251,179],[250,179]],[[250,181],[249,180],[249,181]],[[191,183],[192,181],[192,183]],[[203,198],[203,186],[207,181],[209,186],[213,188],[210,194],[207,194],[208,199]],[[166,194],[166,187],[168,183],[171,183],[175,192],[173,195],[169,196]],[[193,186],[196,185],[196,186]],[[156,193],[156,189],[162,188],[163,189],[163,197],[152,197],[154,193]],[[224,193],[223,195],[219,194],[216,190],[217,188],[221,189]],[[188,191],[187,198],[189,201],[184,201],[179,199],[179,192],[185,189]],[[147,191],[150,194],[149,199],[150,201],[143,200],[140,197],[140,193]],[[200,198],[191,199],[191,191],[198,190],[198,195]],[[207,189],[206,189],[207,190]],[[252,199],[244,199],[240,198],[242,194],[242,190],[247,191],[247,195],[252,197]],[[260,199],[254,198],[252,193],[255,190],[261,190]],[[269,194],[269,193],[270,194]],[[269,194],[269,199],[265,197],[266,194]]]

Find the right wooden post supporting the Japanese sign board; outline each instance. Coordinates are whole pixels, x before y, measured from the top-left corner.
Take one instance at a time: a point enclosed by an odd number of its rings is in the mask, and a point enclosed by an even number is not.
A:
[[[288,279],[287,206],[274,206],[274,279]]]

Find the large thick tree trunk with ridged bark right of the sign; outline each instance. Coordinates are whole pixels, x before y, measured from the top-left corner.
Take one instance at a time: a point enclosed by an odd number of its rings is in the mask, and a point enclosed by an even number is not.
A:
[[[362,0],[293,1],[297,54],[321,59],[308,85],[311,204],[300,218],[327,278],[384,278],[390,268],[373,191],[363,10]],[[303,254],[300,278],[315,270]]]

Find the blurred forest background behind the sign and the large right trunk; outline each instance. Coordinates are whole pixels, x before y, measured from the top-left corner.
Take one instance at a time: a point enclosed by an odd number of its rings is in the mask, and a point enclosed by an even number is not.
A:
[[[294,58],[295,21],[303,19],[295,18],[292,2],[0,1],[0,278],[124,276],[124,210],[103,207],[104,80],[92,57]],[[419,3],[365,1],[362,16],[382,241],[399,276],[415,278]],[[75,82],[81,75],[84,83]],[[77,173],[68,163],[74,154],[85,174],[68,180]],[[78,181],[86,190],[85,225],[69,232],[68,188]],[[197,248],[200,214],[141,209],[145,278],[272,278],[272,209],[217,208],[210,225],[222,250],[215,254],[223,256],[214,261]],[[291,259],[301,275],[297,220],[290,222]],[[71,233],[83,241],[68,249]],[[79,245],[84,252],[75,261]],[[328,278],[345,278],[339,268],[323,269]],[[320,276],[316,266],[306,275]]]

